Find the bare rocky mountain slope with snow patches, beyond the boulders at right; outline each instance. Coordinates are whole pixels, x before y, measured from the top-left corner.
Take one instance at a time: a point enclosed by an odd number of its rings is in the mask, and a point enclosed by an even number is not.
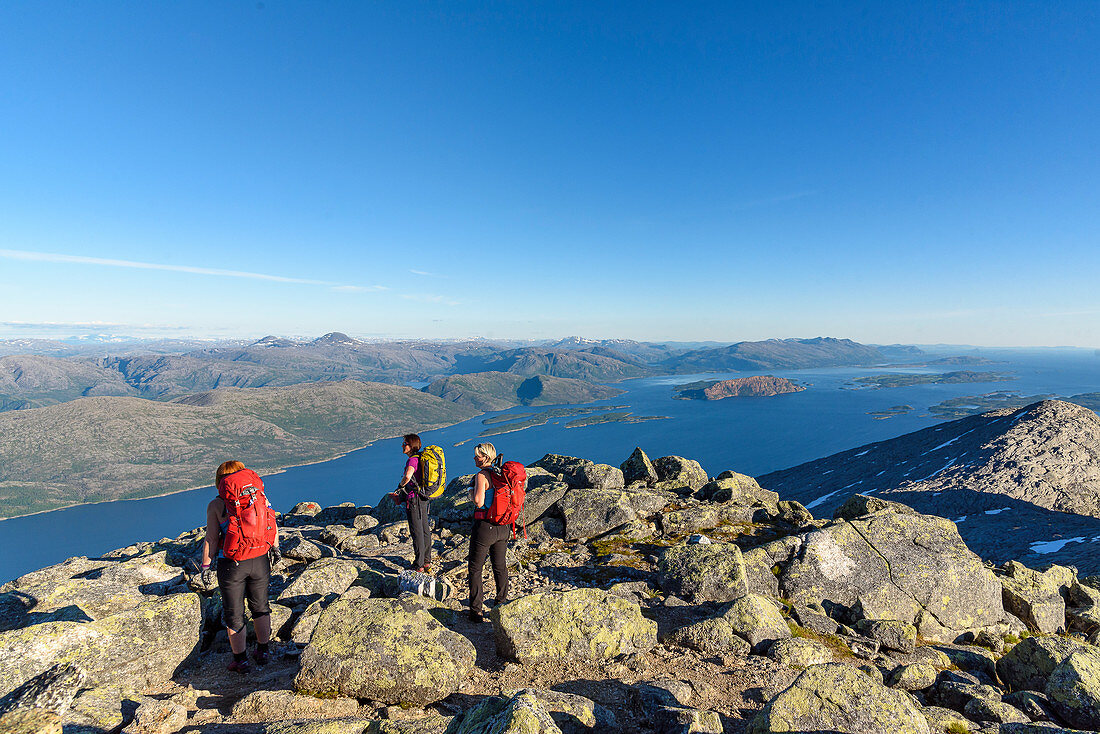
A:
[[[1044,401],[944,423],[772,472],[814,512],[875,493],[954,519],[983,557],[1100,568],[1100,417]],[[1049,541],[1069,540],[1060,547]]]

